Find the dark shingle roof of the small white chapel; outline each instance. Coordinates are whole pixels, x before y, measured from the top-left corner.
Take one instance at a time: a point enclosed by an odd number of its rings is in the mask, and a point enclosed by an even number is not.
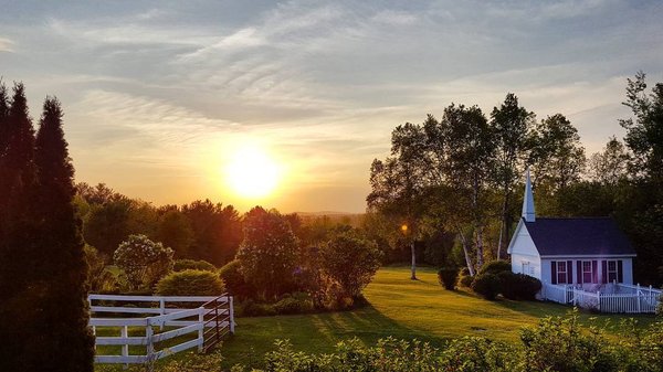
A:
[[[610,217],[537,217],[525,225],[541,256],[635,255]]]

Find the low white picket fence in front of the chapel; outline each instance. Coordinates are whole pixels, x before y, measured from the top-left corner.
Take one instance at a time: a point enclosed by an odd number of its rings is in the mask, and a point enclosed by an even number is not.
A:
[[[663,291],[650,287],[609,284],[602,290],[588,291],[572,285],[552,285],[544,283],[541,297],[559,304],[572,304],[600,312],[653,313]]]

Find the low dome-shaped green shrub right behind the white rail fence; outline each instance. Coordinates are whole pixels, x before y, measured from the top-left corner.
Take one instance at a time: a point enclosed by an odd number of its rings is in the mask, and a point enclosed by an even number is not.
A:
[[[168,274],[157,283],[160,296],[218,296],[225,291],[219,274],[187,269]]]

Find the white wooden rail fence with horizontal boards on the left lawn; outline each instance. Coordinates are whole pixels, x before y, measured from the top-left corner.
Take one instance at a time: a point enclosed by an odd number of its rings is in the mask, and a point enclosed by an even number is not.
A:
[[[234,333],[233,298],[228,295],[218,297],[90,295],[88,300],[93,315],[90,326],[95,334],[101,328],[118,330],[119,333],[96,337],[95,347],[120,346],[119,354],[99,354],[97,351],[96,363],[150,363],[196,347],[202,351],[206,342],[215,344],[220,337]],[[108,306],[108,302],[113,306]],[[146,305],[136,307],[136,302]],[[158,307],[151,306],[152,304],[158,304]],[[191,308],[191,304],[199,304],[199,306]],[[125,317],[126,315],[129,317]],[[165,327],[175,329],[164,331]],[[155,328],[158,328],[157,332]],[[211,331],[206,331],[206,328]],[[129,336],[129,329],[145,336]],[[145,331],[143,332],[141,329]],[[194,333],[194,339],[160,350],[155,349],[155,343],[189,333]],[[145,353],[130,354],[129,346],[144,346]]]

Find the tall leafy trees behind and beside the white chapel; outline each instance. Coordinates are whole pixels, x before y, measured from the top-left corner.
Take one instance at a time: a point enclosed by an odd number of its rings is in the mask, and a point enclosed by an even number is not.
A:
[[[619,120],[625,137],[610,138],[589,159],[565,115],[537,120],[511,93],[490,115],[451,104],[440,119],[400,125],[390,156],[370,167],[371,226],[410,246],[413,278],[418,243],[441,234],[453,236],[442,261],[462,262],[473,275],[486,261],[506,257],[529,168],[537,214],[614,217],[638,252],[635,278],[660,285],[663,84],[648,92],[640,72],[628,79],[623,104],[633,114]]]

